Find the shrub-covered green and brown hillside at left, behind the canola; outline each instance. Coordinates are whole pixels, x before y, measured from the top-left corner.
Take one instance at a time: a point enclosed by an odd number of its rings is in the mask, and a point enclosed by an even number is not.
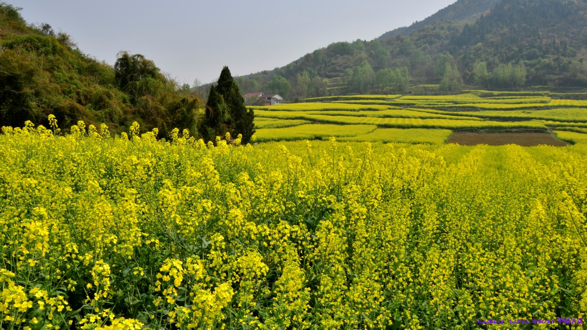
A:
[[[28,25],[19,8],[0,3],[0,126],[25,120],[64,129],[83,120],[114,132],[137,121],[167,137],[174,127],[195,132],[200,99],[168,79],[142,55],[120,53],[112,67],[82,53],[66,33]]]

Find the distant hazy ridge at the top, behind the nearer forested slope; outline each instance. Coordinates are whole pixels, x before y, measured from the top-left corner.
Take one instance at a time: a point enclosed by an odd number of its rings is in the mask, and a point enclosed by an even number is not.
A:
[[[383,33],[383,35],[377,38],[377,40],[387,40],[396,35],[407,36],[426,25],[433,25],[440,21],[468,21],[471,19],[474,21],[484,12],[490,11],[494,8],[500,1],[501,0],[459,0],[454,4],[440,9],[436,14],[423,19],[423,21],[416,21],[410,26],[403,26],[402,28]]]

